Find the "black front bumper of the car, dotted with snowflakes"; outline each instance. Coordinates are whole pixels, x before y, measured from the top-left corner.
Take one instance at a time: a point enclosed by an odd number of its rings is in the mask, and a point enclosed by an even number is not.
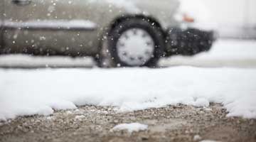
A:
[[[215,31],[169,28],[166,32],[166,56],[196,55],[208,51],[216,39]]]

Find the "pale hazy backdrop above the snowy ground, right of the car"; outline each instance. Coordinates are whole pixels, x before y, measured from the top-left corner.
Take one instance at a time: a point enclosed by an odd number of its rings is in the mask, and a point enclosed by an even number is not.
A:
[[[220,38],[256,39],[255,0],[180,0],[195,26],[214,28]]]

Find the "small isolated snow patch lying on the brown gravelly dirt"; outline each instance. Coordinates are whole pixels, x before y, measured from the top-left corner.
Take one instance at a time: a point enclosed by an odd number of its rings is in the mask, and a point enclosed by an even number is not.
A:
[[[137,132],[137,131],[146,131],[148,129],[147,125],[144,124],[138,124],[138,123],[132,123],[132,124],[118,124],[117,126],[114,126],[113,129],[110,131],[122,131],[127,130],[129,133]]]

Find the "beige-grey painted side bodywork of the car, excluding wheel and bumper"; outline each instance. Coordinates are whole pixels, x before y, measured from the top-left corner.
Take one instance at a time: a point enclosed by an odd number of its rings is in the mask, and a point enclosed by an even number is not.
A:
[[[178,26],[173,18],[177,0],[31,0],[25,5],[4,0],[4,5],[4,53],[95,55],[114,19],[129,15],[149,16],[164,29]],[[95,27],[68,26],[73,21]],[[47,23],[55,25],[47,28]]]

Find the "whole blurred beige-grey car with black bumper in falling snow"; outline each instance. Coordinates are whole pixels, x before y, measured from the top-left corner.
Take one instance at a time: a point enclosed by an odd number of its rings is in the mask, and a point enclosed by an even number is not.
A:
[[[178,6],[178,0],[2,0],[0,53],[92,56],[100,67],[156,67],[162,57],[209,50],[213,32],[181,28]]]

